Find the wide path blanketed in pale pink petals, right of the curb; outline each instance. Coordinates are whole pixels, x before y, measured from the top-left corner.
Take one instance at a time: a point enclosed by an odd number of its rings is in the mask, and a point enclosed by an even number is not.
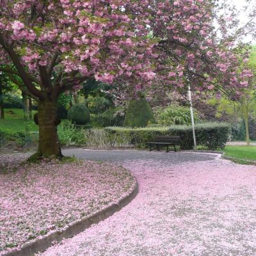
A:
[[[140,187],[131,204],[42,256],[256,255],[255,166],[218,158],[124,166]]]

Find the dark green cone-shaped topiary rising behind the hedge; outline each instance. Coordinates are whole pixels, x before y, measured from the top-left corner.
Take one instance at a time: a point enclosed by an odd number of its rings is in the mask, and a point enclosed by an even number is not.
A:
[[[125,115],[125,127],[145,127],[149,123],[155,123],[154,114],[147,100],[130,100]]]

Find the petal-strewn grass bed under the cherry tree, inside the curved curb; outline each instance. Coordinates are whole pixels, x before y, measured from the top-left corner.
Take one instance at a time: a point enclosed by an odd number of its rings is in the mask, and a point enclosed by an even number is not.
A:
[[[118,202],[136,182],[113,164],[20,165],[26,157],[0,156],[0,255]]]

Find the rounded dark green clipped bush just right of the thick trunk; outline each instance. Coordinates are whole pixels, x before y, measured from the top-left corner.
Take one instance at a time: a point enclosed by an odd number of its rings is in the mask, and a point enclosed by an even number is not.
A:
[[[68,111],[68,120],[72,124],[84,125],[90,122],[90,113],[84,104],[75,104]]]

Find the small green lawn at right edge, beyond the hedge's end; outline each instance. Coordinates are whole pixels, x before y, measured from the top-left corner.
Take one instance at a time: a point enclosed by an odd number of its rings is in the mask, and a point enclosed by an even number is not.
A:
[[[226,146],[224,152],[228,157],[256,161],[256,146]]]

